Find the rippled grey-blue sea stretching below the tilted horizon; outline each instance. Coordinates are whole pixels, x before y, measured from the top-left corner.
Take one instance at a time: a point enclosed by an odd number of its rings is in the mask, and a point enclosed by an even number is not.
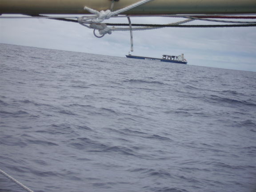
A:
[[[0,169],[34,192],[256,192],[256,72],[0,44]]]

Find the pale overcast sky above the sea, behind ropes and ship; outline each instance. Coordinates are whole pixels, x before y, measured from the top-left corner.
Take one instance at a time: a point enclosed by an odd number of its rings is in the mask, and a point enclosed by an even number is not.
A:
[[[2,16],[21,16],[7,15]],[[132,17],[132,23],[169,24],[184,19]],[[108,23],[128,23],[111,18]],[[193,21],[188,24],[216,24]],[[130,32],[96,38],[80,24],[48,19],[0,19],[0,43],[125,57]],[[184,53],[188,64],[256,72],[256,27],[160,28],[133,31],[132,55],[160,58]]]

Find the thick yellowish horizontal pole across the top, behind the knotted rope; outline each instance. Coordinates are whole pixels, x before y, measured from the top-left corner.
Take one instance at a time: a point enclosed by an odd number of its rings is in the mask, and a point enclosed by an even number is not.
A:
[[[115,1],[114,11],[140,0]],[[0,0],[0,14],[88,14],[111,8],[112,0]],[[253,14],[256,0],[153,0],[124,14]]]

